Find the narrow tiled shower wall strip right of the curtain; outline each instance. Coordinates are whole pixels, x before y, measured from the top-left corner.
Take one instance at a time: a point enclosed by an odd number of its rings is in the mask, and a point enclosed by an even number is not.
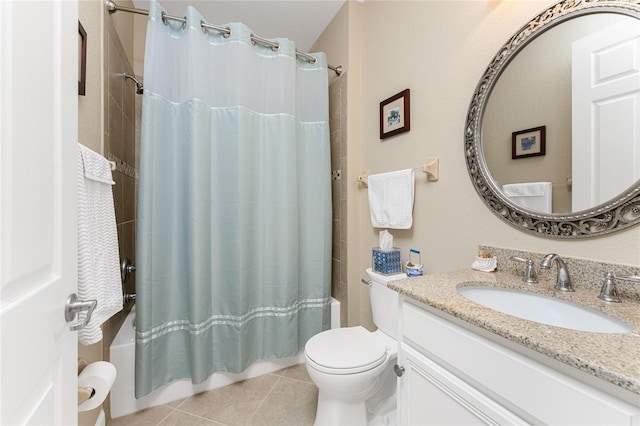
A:
[[[331,129],[331,176],[333,204],[333,247],[331,294],[340,301],[340,325],[348,324],[347,291],[347,75],[329,86],[329,128]]]

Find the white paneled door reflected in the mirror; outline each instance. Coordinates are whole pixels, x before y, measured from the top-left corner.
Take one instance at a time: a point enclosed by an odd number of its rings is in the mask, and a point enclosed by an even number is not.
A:
[[[640,179],[640,25],[634,18],[573,44],[572,210]]]

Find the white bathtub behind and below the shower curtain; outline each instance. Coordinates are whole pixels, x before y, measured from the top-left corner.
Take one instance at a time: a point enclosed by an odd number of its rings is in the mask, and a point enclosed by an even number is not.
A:
[[[135,306],[125,319],[120,331],[110,347],[110,361],[116,366],[118,375],[111,388],[111,417],[117,418],[135,413],[145,408],[166,404],[177,399],[216,389],[231,383],[271,373],[304,362],[304,353],[289,358],[260,361],[250,365],[239,374],[214,373],[209,379],[197,385],[191,380],[179,380],[155,390],[149,395],[136,399],[134,396],[135,368]],[[331,328],[340,327],[340,302],[331,299]]]

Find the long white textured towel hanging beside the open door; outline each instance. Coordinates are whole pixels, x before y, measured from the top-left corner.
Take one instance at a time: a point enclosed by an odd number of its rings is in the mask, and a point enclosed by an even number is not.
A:
[[[113,184],[109,161],[78,144],[78,298],[98,301],[91,321],[78,331],[84,345],[99,342],[102,323],[122,310]],[[85,315],[79,314],[81,321]]]

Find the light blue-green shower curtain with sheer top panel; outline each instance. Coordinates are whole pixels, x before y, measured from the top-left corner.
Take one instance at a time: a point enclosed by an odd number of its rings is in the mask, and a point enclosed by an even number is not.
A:
[[[329,328],[328,75],[294,44],[147,24],[136,397],[293,356]],[[206,21],[205,21],[206,22]]]

